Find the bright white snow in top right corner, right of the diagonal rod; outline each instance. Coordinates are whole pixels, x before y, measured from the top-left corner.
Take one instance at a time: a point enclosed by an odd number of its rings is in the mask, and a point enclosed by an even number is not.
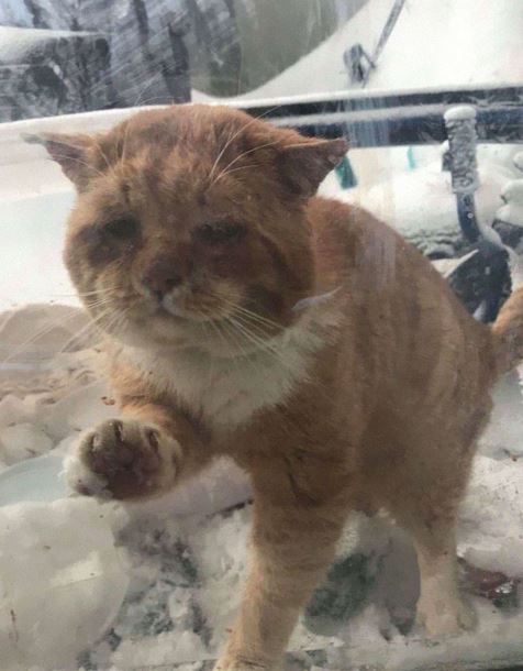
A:
[[[522,31],[513,0],[408,0],[368,86],[519,84]]]

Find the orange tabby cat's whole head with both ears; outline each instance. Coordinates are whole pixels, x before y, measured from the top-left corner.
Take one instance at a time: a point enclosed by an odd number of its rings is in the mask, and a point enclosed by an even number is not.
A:
[[[207,106],[40,140],[78,189],[66,265],[116,339],[234,355],[290,326],[313,292],[305,204],[344,141]]]

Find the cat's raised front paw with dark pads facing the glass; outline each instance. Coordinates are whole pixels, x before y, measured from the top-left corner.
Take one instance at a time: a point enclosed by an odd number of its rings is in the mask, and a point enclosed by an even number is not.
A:
[[[66,474],[79,494],[145,498],[174,484],[179,455],[178,442],[162,429],[134,419],[109,419],[84,435]]]

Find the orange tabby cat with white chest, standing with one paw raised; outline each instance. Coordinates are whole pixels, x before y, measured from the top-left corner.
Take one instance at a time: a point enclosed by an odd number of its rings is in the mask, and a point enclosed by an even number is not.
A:
[[[123,413],[82,439],[74,486],[155,496],[223,454],[251,475],[249,572],[216,668],[280,663],[355,509],[412,534],[427,631],[470,627],[456,512],[523,293],[491,330],[391,229],[315,197],[343,140],[179,106],[40,141],[78,190],[65,261]]]

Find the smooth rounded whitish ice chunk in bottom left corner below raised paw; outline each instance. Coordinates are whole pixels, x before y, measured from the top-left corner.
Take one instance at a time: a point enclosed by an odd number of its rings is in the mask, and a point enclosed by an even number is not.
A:
[[[2,671],[76,668],[111,625],[129,578],[101,510],[87,498],[0,508]]]

